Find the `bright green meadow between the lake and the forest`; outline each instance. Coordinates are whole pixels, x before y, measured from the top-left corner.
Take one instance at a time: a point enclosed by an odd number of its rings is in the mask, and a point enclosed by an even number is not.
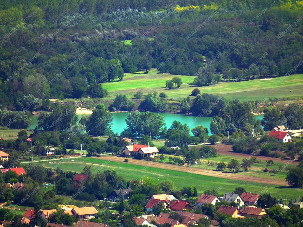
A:
[[[180,88],[171,90],[165,88],[165,81],[178,76],[183,84]],[[128,97],[141,90],[148,92],[165,92],[168,98],[183,99],[191,94],[195,88],[192,85],[195,77],[171,74],[159,74],[152,69],[148,74],[144,72],[128,73],[123,81],[103,83],[110,96],[126,94]],[[240,82],[220,82],[210,86],[198,87],[201,93],[218,94],[227,99],[239,98],[240,100],[262,100],[265,98],[301,98],[303,97],[303,75],[294,74],[287,77],[276,77],[270,80],[255,79]],[[277,89],[279,92],[277,92]]]

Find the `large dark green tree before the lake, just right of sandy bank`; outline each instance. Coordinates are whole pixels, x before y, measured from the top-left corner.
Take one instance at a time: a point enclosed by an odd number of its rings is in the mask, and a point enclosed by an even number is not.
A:
[[[112,113],[105,110],[104,104],[98,104],[93,109],[92,115],[89,117],[82,117],[81,124],[84,124],[90,135],[100,135],[100,130],[103,135],[109,133],[112,125]]]

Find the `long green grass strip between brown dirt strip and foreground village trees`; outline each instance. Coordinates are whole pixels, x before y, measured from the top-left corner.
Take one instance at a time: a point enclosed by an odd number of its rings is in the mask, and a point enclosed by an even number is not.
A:
[[[92,172],[103,171],[105,169],[114,168],[118,174],[121,174],[126,179],[141,179],[143,176],[153,177],[158,183],[164,179],[170,179],[174,182],[175,188],[180,189],[184,186],[195,186],[201,194],[206,189],[218,189],[220,194],[232,192],[236,187],[242,186],[248,192],[254,193],[271,193],[278,198],[298,198],[303,194],[303,191],[298,188],[285,186],[276,186],[271,184],[260,184],[232,179],[222,179],[212,176],[204,176],[175,170],[159,169],[150,166],[132,165],[129,163],[118,163],[107,160],[99,160],[95,158],[78,158],[75,161],[58,160],[53,163],[41,162],[42,165],[48,168],[62,168],[66,171],[75,171],[80,173],[86,165],[92,166]]]

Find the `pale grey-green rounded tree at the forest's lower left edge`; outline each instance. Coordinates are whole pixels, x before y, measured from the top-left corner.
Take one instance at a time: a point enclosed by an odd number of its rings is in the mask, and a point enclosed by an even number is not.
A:
[[[49,94],[49,83],[42,74],[30,75],[23,81],[23,90],[25,94],[43,99]]]

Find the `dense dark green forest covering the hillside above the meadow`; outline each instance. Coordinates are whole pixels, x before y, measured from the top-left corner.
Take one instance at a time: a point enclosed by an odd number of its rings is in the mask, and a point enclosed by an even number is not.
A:
[[[198,86],[303,72],[303,1],[0,2],[0,104],[11,110],[28,94],[104,97],[103,82],[151,67]]]

